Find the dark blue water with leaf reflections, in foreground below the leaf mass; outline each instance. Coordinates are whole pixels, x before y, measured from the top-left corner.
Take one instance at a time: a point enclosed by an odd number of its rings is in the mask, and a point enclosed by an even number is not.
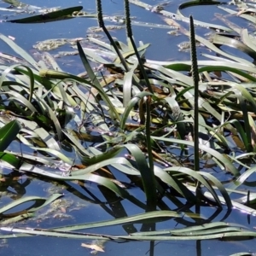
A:
[[[42,195],[49,196],[53,193],[61,193],[64,196],[51,203],[49,207],[44,207],[36,212],[34,218],[21,221],[15,224],[15,227],[31,227],[31,228],[52,228],[61,227],[68,224],[90,223],[94,221],[102,221],[113,218],[122,218],[131,214],[143,212],[143,209],[135,207],[134,204],[127,200],[122,200],[113,192],[93,183],[59,183],[49,182],[37,177],[17,177],[17,172],[5,171],[3,178],[8,180],[6,186],[9,191],[15,190],[15,193],[2,195],[2,202],[5,204],[9,198],[16,199],[24,195]],[[4,184],[2,181],[1,184]],[[2,187],[3,189],[6,189]],[[3,190],[1,188],[1,190]],[[138,189],[129,189],[131,195],[137,195],[137,198],[143,201],[144,195]],[[14,197],[14,195],[16,195]],[[19,196],[17,196],[19,195]],[[167,195],[168,196],[168,195]],[[172,199],[170,194],[169,199]],[[180,209],[179,212],[196,212],[199,209],[191,205],[187,205],[185,201],[168,200],[159,202],[161,210]],[[218,210],[216,207],[201,207],[201,219],[199,218],[166,218],[160,220],[155,226],[157,230],[180,229],[195,224],[207,224],[209,222],[224,221],[228,223],[239,223],[241,225],[253,228],[256,226],[255,217],[247,217],[247,214],[227,210]],[[248,222],[249,221],[249,222]],[[89,230],[80,230],[81,232],[108,235],[127,235],[137,231],[150,229],[151,224],[125,224],[110,227],[102,227]],[[54,255],[61,253],[62,255],[89,255],[90,249],[81,247],[81,243],[91,244],[96,241],[86,240],[70,240],[51,237],[20,237],[9,239],[8,241],[0,241],[1,255]],[[45,245],[47,244],[47,247]],[[104,245],[106,255],[198,255],[198,243],[196,241],[155,241],[153,244],[148,241],[143,242],[113,242],[108,241]],[[201,255],[230,255],[239,251],[253,250],[253,241],[201,241]],[[218,247],[218,250],[216,250]],[[29,253],[28,253],[29,252]],[[154,252],[154,253],[153,253]],[[153,254],[152,254],[153,253]]]

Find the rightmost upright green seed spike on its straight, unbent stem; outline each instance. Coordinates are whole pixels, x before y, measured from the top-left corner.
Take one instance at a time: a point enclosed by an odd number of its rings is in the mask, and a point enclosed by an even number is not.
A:
[[[195,106],[194,106],[194,149],[195,149],[195,171],[200,170],[200,160],[199,160],[199,107],[198,107],[198,84],[199,84],[199,74],[197,66],[197,57],[196,57],[196,46],[195,46],[195,26],[193,17],[190,15],[190,52],[191,52],[191,72],[194,81],[195,87]]]

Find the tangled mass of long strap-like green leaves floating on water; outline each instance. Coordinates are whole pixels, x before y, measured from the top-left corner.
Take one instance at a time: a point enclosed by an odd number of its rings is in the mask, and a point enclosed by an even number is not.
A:
[[[192,17],[189,19],[190,32],[177,25],[180,32],[190,38],[190,61],[147,60],[145,51],[148,44],[137,47],[133,38],[129,6],[132,2],[125,1],[127,44],[124,44],[111,37],[104,24],[101,1],[96,1],[98,23],[110,44],[93,39],[101,47],[101,53],[107,56],[104,59],[97,54],[98,51],[85,49],[77,42],[86,70],[83,78],[63,72],[49,54],[44,54],[44,58],[50,63],[50,68],[46,61],[35,61],[12,40],[0,35],[20,55],[20,59],[11,58],[14,65],[0,67],[0,121],[3,126],[0,154],[2,160],[17,173],[26,172],[27,175],[61,182],[97,183],[113,191],[115,199],[131,201],[144,213],[52,230],[10,227],[0,230],[21,233],[20,236],[82,239],[86,236],[87,239],[112,241],[254,237],[254,231],[241,230],[224,222],[208,223],[197,212],[188,210],[192,204],[201,206],[207,203],[216,209],[225,206],[231,211],[236,207],[255,214],[253,207],[249,206],[251,201],[255,201],[255,194],[238,190],[255,172],[255,167],[250,166],[254,161],[256,131],[253,120],[256,117],[254,64],[228,55],[209,40],[195,35]],[[183,4],[179,9],[185,6]],[[187,18],[181,20],[187,21]],[[196,20],[195,24],[202,25]],[[240,35],[244,44],[242,49],[250,48],[250,55],[254,56],[256,47],[247,30],[241,30]],[[230,42],[229,37],[218,34],[213,42],[220,44],[220,39],[224,44]],[[196,41],[224,57],[205,55],[211,61],[197,60]],[[240,47],[239,43],[237,41],[233,45]],[[10,59],[9,55],[1,56],[3,60]],[[103,64],[105,72],[94,71],[90,61]],[[192,77],[184,72],[192,73]],[[76,127],[70,128],[71,122]],[[97,135],[91,135],[90,131]],[[237,154],[231,139],[244,154]],[[15,140],[32,148],[38,155],[7,150]],[[71,148],[79,159],[68,158],[61,147]],[[208,162],[229,173],[233,178],[229,185],[224,185],[207,172]],[[50,166],[51,171],[57,168],[59,172],[45,171],[44,166]],[[242,174],[241,167],[245,170]],[[131,182],[117,179],[113,170]],[[132,195],[133,186],[143,190],[146,203]],[[231,193],[242,196],[233,199]],[[41,201],[40,207],[44,207],[59,196],[49,199],[32,197],[24,201]],[[16,201],[0,209],[4,218],[2,224],[32,217],[32,212],[38,207],[26,208],[12,216],[4,214],[24,201]],[[177,207],[172,209],[164,201]],[[160,221],[163,218],[176,218],[177,222],[182,222],[183,218],[198,218],[204,224],[180,230],[148,229],[129,236],[77,232],[92,227]]]

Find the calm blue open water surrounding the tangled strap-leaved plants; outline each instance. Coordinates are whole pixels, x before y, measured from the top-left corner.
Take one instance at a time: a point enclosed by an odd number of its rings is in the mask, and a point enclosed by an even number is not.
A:
[[[156,4],[157,1],[145,0],[145,3]],[[88,12],[95,11],[95,1],[92,0],[55,0],[55,1],[37,1],[28,0],[26,3],[40,6],[40,7],[56,7],[67,8],[71,6],[83,5],[84,10]],[[180,1],[173,1],[166,6],[166,10],[176,12]],[[7,8],[9,4],[0,2],[1,8]],[[105,15],[123,15],[123,3],[120,0],[102,0],[102,7]],[[219,25],[224,25],[221,21],[214,20],[212,15],[215,7],[208,6],[201,9],[191,8],[185,9],[184,14],[193,14],[195,19],[207,22],[213,22]],[[209,11],[209,10],[212,10]],[[205,10],[205,11],[204,11]],[[218,10],[221,13],[220,10]],[[206,13],[207,15],[201,15]],[[138,21],[152,22],[164,24],[162,17],[155,13],[141,9],[131,4],[131,15],[136,17]],[[22,15],[13,15],[0,11],[0,19],[17,19]],[[212,21],[213,20],[213,21]],[[241,21],[242,23],[243,21]],[[13,24],[2,22],[0,23],[1,32],[6,36],[15,38],[15,43],[26,49],[31,54],[35,54],[32,48],[33,44],[49,38],[84,38],[88,27],[96,26],[95,19],[77,18],[73,20],[61,20],[46,24]],[[187,24],[183,26],[188,27]],[[170,36],[165,29],[151,28],[143,26],[133,27],[136,41],[143,41],[143,43],[150,43],[146,57],[159,61],[167,60],[189,60],[188,52],[178,51],[177,44],[188,40],[183,35]],[[207,32],[207,29],[196,28],[196,32],[202,35]],[[112,36],[119,38],[120,41],[125,42],[125,31],[113,31]],[[4,53],[13,54],[7,44],[0,42],[1,51]],[[70,50],[69,46],[63,46],[60,49],[50,51],[50,54],[55,55],[59,50]],[[204,50],[204,49],[201,49]],[[61,68],[70,73],[80,73],[83,70],[78,56],[61,57],[57,60]],[[69,153],[72,156],[72,153]],[[11,176],[9,170],[3,170],[5,175]],[[117,174],[118,176],[118,174]],[[121,218],[142,212],[142,209],[135,207],[129,201],[115,202],[115,195],[106,192],[105,189],[98,188],[96,184],[86,183],[80,186],[78,183],[51,183],[49,180],[38,179],[36,177],[22,176],[20,180],[12,183],[9,188],[8,195],[2,195],[0,207],[9,201],[13,201],[18,196],[38,195],[49,196],[53,193],[63,193],[62,207],[60,207],[57,215],[46,214],[47,209],[43,209],[38,214],[40,218],[32,218],[26,221],[22,226],[29,226],[31,228],[52,228],[57,226],[64,226],[67,224],[79,224],[85,222],[108,220],[113,218]],[[131,195],[136,195],[137,198],[143,201],[143,193],[139,189],[129,191]],[[108,201],[111,199],[111,203]],[[170,203],[169,203],[170,204]],[[169,206],[175,209],[175,206]],[[195,211],[192,207],[191,211]],[[226,215],[226,210],[218,212],[216,208],[202,207],[201,215],[207,218],[212,218],[212,221],[225,221],[230,223],[238,223],[247,227],[253,228],[256,226],[256,218],[247,217],[246,214],[233,211]],[[195,220],[188,219],[187,224],[195,224]],[[19,226],[19,224],[17,224]],[[156,229],[166,228],[182,228],[183,222],[178,223],[177,220],[172,219],[156,224]],[[113,235],[127,235],[129,229],[139,231],[142,229],[142,224],[133,224],[126,226],[114,226],[108,228],[86,230],[89,233],[99,234],[113,234]],[[81,247],[81,243],[90,243],[91,241],[60,239],[51,237],[20,237],[9,239],[7,243],[0,241],[0,254],[13,256],[52,256],[52,255],[90,255],[90,249]],[[95,241],[97,242],[97,241]],[[252,252],[256,253],[254,246],[255,241],[161,241],[161,242],[125,242],[117,243],[110,242],[104,244],[106,256],[129,256],[129,255],[230,255],[238,252]]]

